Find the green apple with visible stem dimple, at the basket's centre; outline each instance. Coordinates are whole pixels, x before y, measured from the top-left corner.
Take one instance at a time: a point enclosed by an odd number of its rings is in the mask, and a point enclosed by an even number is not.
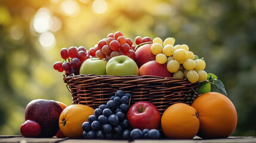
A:
[[[118,55],[110,58],[106,67],[107,75],[113,76],[138,76],[138,66],[134,60],[126,55]]]

